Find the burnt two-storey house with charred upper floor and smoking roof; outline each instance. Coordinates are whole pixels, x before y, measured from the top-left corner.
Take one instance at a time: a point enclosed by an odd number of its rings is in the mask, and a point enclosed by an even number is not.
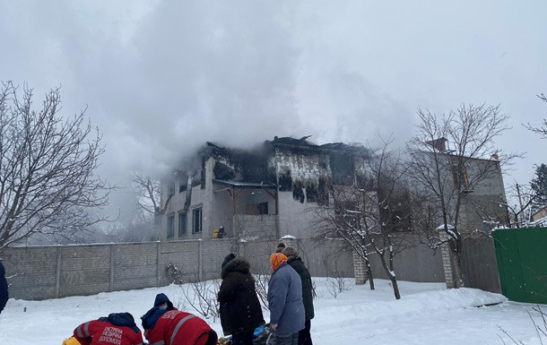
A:
[[[162,181],[161,239],[313,237],[314,205],[328,203],[326,185],[352,185],[369,151],[304,137],[265,141],[249,150],[207,142]]]

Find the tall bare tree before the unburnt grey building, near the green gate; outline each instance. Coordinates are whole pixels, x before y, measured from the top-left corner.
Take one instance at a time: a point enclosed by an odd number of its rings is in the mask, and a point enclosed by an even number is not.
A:
[[[435,230],[447,234],[447,240],[435,234],[428,240],[433,248],[448,242],[455,264],[456,287],[460,287],[464,284],[460,227],[463,205],[471,207],[468,204],[473,199],[470,196],[473,188],[481,187],[491,177],[499,177],[500,168],[518,154],[504,154],[494,146],[494,140],[509,128],[508,116],[500,113],[499,106],[463,104],[443,116],[418,109],[418,116],[417,134],[407,143],[408,176],[414,185],[413,192],[427,200],[430,218],[438,219],[440,226]],[[447,147],[447,142],[452,146]],[[496,214],[503,213],[506,217],[499,222],[507,223],[507,211]]]

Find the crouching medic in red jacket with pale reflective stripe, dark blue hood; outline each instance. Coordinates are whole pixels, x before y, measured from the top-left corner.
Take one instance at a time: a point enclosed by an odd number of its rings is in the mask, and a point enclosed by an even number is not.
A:
[[[214,345],[218,339],[204,320],[179,311],[165,294],[156,296],[154,306],[141,319],[150,344]]]

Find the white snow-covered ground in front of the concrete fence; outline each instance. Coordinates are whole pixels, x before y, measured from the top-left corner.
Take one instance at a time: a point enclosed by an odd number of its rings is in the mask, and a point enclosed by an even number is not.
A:
[[[540,344],[529,315],[543,328],[541,317],[533,310],[536,306],[509,302],[501,295],[401,281],[403,298],[397,301],[387,280],[376,280],[375,291],[347,280],[348,290],[334,298],[329,292],[332,289],[327,289],[329,281],[314,281],[316,317],[311,324],[317,345],[514,344],[509,336],[524,344]],[[184,305],[182,289],[176,285],[45,301],[10,299],[0,314],[0,344],[61,344],[79,323],[112,312],[127,311],[138,319],[159,292],[166,293],[175,305]],[[265,312],[266,322],[267,317]],[[221,334],[220,320],[207,321]],[[140,320],[137,324],[140,326]]]

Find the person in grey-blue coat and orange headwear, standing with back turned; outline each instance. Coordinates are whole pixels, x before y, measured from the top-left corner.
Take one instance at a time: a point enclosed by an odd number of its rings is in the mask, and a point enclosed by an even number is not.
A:
[[[270,262],[273,270],[268,283],[270,326],[277,345],[297,345],[306,322],[302,282],[299,273],[287,264],[285,254],[272,254]]]

